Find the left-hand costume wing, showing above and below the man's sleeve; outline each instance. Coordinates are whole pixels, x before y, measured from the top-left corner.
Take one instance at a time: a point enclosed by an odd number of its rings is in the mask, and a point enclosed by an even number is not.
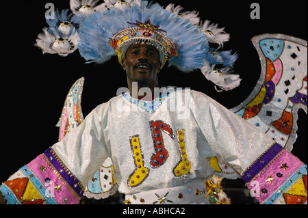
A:
[[[84,122],[84,115],[81,111],[83,87],[84,77],[81,77],[75,81],[66,96],[60,120],[56,125],[60,127],[59,141],[64,138],[66,133]],[[113,174],[112,160],[107,158],[88,183],[84,195],[89,198],[101,199],[113,195],[116,191],[118,191],[118,185]]]

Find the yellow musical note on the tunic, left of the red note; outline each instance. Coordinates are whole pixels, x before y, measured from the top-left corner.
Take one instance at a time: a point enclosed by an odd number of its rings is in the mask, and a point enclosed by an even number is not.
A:
[[[133,161],[135,163],[136,169],[131,175],[129,175],[127,185],[129,185],[129,187],[136,187],[146,179],[146,176],[149,175],[149,169],[144,166],[143,153],[139,142],[139,136],[133,135],[129,137],[129,141],[131,144],[131,152],[133,153]]]

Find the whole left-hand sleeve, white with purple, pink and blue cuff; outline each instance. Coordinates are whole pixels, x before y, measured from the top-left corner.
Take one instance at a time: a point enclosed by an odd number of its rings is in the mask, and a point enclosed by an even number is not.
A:
[[[8,204],[78,204],[84,187],[107,159],[102,109],[95,109],[62,141],[3,182]]]

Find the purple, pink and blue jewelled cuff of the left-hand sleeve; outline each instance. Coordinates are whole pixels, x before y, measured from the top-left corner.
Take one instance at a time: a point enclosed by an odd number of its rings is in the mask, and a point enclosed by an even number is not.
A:
[[[78,204],[84,189],[49,148],[5,181],[0,191],[8,204]]]

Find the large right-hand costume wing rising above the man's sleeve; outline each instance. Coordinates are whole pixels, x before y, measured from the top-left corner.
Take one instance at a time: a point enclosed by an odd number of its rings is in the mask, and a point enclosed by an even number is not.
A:
[[[253,92],[231,109],[291,151],[298,109],[307,113],[307,41],[283,34],[255,36],[261,75]]]

